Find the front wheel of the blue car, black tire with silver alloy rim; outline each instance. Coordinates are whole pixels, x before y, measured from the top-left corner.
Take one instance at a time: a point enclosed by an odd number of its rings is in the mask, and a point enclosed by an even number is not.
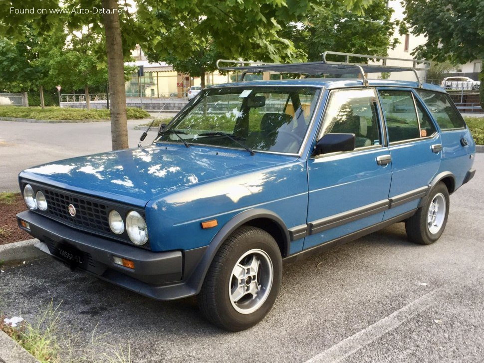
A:
[[[212,261],[198,295],[211,323],[238,332],[261,321],[274,304],[282,258],[266,231],[244,226],[232,233]]]

